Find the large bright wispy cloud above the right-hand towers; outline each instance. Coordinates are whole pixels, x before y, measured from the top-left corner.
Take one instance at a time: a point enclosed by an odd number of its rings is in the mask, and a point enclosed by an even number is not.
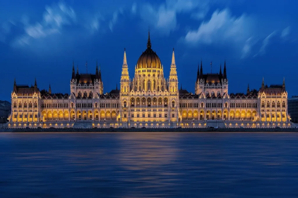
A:
[[[242,43],[252,36],[253,21],[245,14],[233,17],[228,9],[213,12],[209,21],[202,22],[198,29],[190,30],[184,37],[187,43]]]

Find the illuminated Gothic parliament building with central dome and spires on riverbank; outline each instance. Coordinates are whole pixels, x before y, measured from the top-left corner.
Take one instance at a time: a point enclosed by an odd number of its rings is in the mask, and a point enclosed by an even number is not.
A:
[[[174,49],[168,79],[151,48],[139,57],[130,78],[124,50],[120,87],[103,91],[100,68],[79,73],[72,65],[70,93],[52,93],[14,81],[9,127],[289,127],[288,93],[280,85],[264,84],[246,93],[229,94],[226,61],[223,72],[204,73],[198,65],[194,93],[178,87]]]

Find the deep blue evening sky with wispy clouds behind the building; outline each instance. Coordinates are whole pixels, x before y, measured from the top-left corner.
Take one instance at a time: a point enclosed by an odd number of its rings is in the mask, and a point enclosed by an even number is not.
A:
[[[1,1],[0,99],[10,100],[13,80],[69,93],[72,60],[80,72],[101,66],[104,92],[120,82],[123,50],[128,71],[152,48],[169,76],[175,47],[179,87],[194,92],[198,62],[203,72],[219,72],[226,59],[229,93],[282,84],[296,88],[298,1]]]

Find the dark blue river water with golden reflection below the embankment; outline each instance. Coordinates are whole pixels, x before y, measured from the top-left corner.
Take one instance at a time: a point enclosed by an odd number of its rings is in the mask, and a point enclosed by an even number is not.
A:
[[[1,197],[298,197],[295,133],[1,133]]]

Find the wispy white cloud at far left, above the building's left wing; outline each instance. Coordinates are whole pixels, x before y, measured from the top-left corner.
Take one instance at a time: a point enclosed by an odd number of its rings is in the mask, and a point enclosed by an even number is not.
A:
[[[64,3],[46,6],[43,14],[43,20],[36,22],[34,25],[29,23],[29,18],[23,16],[21,22],[24,24],[25,34],[17,37],[13,42],[13,46],[29,45],[30,40],[45,38],[49,35],[60,33],[64,25],[75,22],[76,14],[71,7],[67,7]]]

